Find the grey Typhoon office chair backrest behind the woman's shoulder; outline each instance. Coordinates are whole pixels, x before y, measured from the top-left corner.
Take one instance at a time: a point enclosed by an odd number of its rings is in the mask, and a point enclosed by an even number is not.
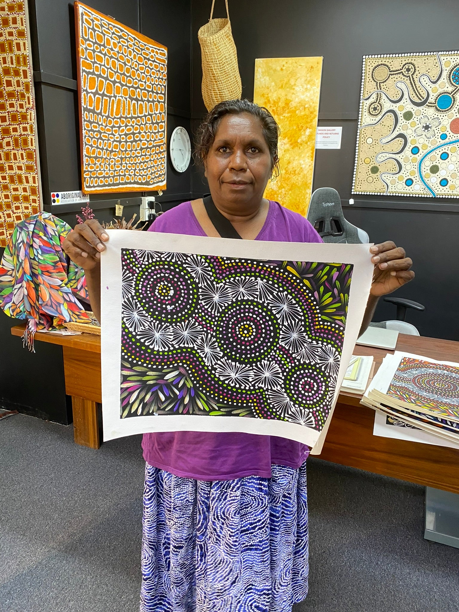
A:
[[[308,222],[324,242],[359,244],[370,242],[368,234],[343,215],[340,194],[331,187],[316,189],[308,207]]]

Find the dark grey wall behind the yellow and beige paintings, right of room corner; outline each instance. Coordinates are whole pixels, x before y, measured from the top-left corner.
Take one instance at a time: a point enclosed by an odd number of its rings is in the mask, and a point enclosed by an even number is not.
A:
[[[209,19],[211,2],[192,0],[192,110],[196,125],[201,97],[201,53],[196,32]],[[224,2],[216,3],[223,17]],[[362,56],[378,53],[453,50],[459,47],[457,0],[231,0],[242,95],[253,97],[255,58],[323,56],[319,125],[342,125],[338,151],[316,153],[313,188],[334,187],[345,216],[370,240],[394,240],[414,261],[416,279],[397,295],[425,305],[408,321],[422,335],[459,340],[459,203],[455,200],[355,198],[349,206],[356,146]],[[193,190],[203,192],[195,172]],[[459,201],[458,201],[459,202]],[[440,203],[440,205],[438,205]],[[447,203],[447,206],[442,204]],[[413,206],[413,210],[407,209]],[[436,206],[438,206],[436,208]],[[421,211],[420,208],[432,209]],[[446,209],[442,211],[442,209]],[[449,209],[449,210],[448,210]],[[395,318],[395,308],[378,306],[376,320]]]

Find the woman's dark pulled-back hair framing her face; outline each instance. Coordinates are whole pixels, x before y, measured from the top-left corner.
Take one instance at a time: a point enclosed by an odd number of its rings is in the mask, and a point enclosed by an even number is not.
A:
[[[272,114],[264,108],[249,100],[226,100],[218,102],[207,114],[206,119],[201,123],[196,132],[195,161],[203,164],[215,140],[218,125],[227,114],[250,113],[256,117],[263,127],[263,136],[269,148],[272,162],[272,176],[275,179],[280,174],[279,157],[277,153],[277,140],[279,136],[279,126]]]

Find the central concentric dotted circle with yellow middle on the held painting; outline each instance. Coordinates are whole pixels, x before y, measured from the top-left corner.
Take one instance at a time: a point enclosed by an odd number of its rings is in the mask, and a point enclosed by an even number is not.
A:
[[[264,359],[277,346],[280,330],[271,310],[258,302],[241,300],[226,307],[217,320],[217,343],[237,362]]]

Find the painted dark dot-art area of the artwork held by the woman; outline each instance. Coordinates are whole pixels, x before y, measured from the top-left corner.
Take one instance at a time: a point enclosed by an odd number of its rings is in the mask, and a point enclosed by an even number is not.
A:
[[[353,266],[122,249],[121,417],[242,416],[321,431]]]

